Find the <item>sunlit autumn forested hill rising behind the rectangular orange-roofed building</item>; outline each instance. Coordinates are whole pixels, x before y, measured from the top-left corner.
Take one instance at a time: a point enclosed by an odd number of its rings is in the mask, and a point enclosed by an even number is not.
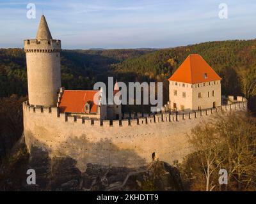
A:
[[[113,64],[111,68],[124,80],[129,73],[139,80],[163,81],[172,75],[189,54],[202,55],[223,78],[224,94],[241,94],[239,73],[243,70],[251,70],[253,77],[256,74],[256,40],[212,41],[162,49]]]

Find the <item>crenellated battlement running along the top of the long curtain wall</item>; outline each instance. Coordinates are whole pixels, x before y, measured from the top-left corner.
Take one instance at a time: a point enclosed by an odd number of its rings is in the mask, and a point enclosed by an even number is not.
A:
[[[61,96],[61,93],[60,93]],[[59,96],[59,97],[60,97]],[[60,113],[58,107],[34,107],[29,106],[28,102],[23,103],[23,110],[29,113],[51,114],[52,117],[58,117],[62,122],[68,124],[82,124],[88,128],[101,127],[135,127],[164,122],[186,122],[187,120],[200,119],[218,112],[227,112],[231,110],[247,110],[247,101],[245,98],[237,97],[239,101],[234,101],[228,105],[221,105],[216,108],[205,110],[196,110],[191,112],[163,112],[149,115],[148,113],[124,113],[122,120],[97,120],[88,119],[79,115],[70,115],[70,113]]]

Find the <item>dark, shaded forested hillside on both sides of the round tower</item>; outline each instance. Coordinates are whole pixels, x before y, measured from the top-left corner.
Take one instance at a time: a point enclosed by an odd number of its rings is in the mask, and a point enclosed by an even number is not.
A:
[[[97,81],[106,80],[109,66],[154,49],[63,50],[61,80],[66,89],[92,89]],[[0,48],[0,98],[28,94],[26,57],[19,48]]]

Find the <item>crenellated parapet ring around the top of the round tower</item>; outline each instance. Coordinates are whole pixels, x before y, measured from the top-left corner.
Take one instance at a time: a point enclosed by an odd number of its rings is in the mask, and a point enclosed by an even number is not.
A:
[[[24,40],[25,52],[60,52],[60,40]]]

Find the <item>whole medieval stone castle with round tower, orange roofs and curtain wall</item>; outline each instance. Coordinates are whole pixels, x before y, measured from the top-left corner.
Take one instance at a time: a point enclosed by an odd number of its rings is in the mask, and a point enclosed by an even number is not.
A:
[[[170,97],[161,112],[122,113],[121,105],[95,104],[101,91],[61,87],[61,41],[52,40],[44,15],[35,40],[24,41],[28,101],[23,103],[24,138],[30,151],[88,163],[137,167],[157,156],[172,163],[191,152],[186,133],[216,112],[246,110],[241,96],[221,96],[221,78],[192,54],[169,78]],[[119,91],[116,82],[113,94]]]

